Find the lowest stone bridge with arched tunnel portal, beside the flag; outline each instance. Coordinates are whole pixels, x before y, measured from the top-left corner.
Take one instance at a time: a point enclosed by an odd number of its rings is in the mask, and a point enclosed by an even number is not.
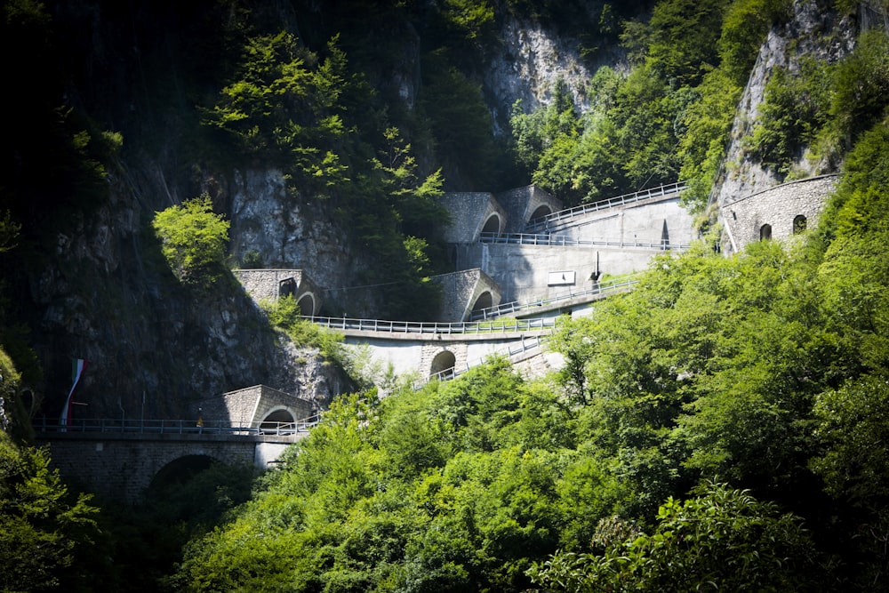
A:
[[[313,402],[266,385],[206,397],[188,420],[44,418],[37,442],[50,446],[52,465],[66,481],[113,501],[139,501],[154,480],[206,469],[214,461],[268,469],[308,435]]]

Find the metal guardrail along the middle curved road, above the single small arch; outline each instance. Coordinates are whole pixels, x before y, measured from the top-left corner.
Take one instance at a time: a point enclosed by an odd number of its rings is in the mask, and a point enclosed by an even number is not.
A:
[[[508,321],[437,323],[419,321],[384,321],[381,319],[350,319],[348,317],[301,317],[327,329],[379,333],[507,333],[546,330],[556,327],[555,319],[509,319]]]

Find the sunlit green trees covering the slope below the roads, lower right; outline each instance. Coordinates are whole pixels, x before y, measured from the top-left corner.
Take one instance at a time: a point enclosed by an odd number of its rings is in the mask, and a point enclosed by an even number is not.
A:
[[[885,586],[887,130],[805,240],[655,260],[565,322],[549,381],[495,359],[342,398],[171,584]]]

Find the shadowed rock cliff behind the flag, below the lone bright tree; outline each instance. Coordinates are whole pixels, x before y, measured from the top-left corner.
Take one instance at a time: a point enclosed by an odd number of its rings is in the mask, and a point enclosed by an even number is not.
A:
[[[157,206],[144,198],[164,195],[161,180],[134,184],[126,171],[30,276],[44,413],[60,411],[72,358],[90,361],[75,397],[82,418],[180,418],[193,400],[259,383],[319,405],[348,390],[335,365],[272,329],[233,276],[208,291],[179,284],[149,226]]]

